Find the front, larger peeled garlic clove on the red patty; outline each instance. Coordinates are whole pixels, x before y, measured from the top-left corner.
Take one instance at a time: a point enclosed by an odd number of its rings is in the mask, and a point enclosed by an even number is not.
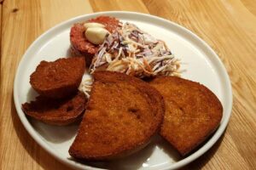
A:
[[[90,27],[85,31],[85,37],[89,42],[94,44],[101,44],[104,42],[105,37],[109,34],[109,31],[101,27]]]

